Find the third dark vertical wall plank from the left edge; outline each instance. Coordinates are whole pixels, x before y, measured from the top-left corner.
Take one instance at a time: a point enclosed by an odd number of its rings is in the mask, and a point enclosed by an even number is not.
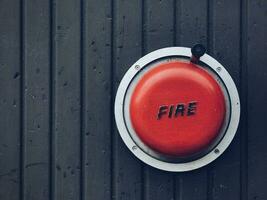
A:
[[[54,2],[53,198],[80,199],[80,1]]]

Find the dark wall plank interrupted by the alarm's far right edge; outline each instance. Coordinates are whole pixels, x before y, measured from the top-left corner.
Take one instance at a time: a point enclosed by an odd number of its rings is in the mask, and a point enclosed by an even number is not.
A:
[[[210,1],[210,54],[230,73],[239,89],[240,1]],[[226,42],[227,41],[227,42]],[[224,154],[211,164],[212,199],[240,199],[240,132]]]

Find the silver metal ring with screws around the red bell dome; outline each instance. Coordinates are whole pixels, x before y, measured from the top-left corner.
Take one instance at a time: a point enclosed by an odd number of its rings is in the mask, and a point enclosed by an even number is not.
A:
[[[183,56],[190,58],[191,49],[186,47],[169,47],[159,49],[140,58],[135,64],[133,64],[129,68],[129,70],[126,72],[123,79],[121,80],[116,94],[115,120],[121,138],[123,139],[126,146],[137,158],[139,158],[146,164],[161,170],[182,172],[194,170],[209,164],[210,162],[218,158],[227,149],[227,147],[233,140],[236,130],[238,128],[240,118],[240,100],[235,83],[229,73],[226,71],[226,69],[217,60],[215,60],[208,54],[203,55],[200,58],[200,61],[205,65],[209,66],[218,75],[218,77],[223,81],[229,95],[229,112],[231,113],[231,117],[229,119],[228,129],[226,130],[225,135],[220,140],[220,142],[213,148],[212,151],[205,154],[203,157],[197,158],[196,160],[183,163],[173,163],[165,160],[159,160],[155,157],[152,157],[151,155],[148,155],[138,145],[136,145],[135,141],[133,140],[128,131],[128,127],[124,119],[124,97],[127,93],[127,89],[132,79],[142,68],[146,67],[149,63],[155,60],[173,56]]]

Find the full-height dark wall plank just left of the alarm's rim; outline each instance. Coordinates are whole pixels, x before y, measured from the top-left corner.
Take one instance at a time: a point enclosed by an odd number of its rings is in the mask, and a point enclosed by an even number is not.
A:
[[[84,199],[111,199],[110,0],[84,5]]]

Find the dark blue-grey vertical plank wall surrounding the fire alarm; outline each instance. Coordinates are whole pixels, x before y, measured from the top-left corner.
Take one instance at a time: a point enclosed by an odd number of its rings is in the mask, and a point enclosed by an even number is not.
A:
[[[266,0],[0,0],[0,200],[266,200]],[[242,120],[187,173],[137,160],[114,96],[142,55],[201,42],[232,75]]]

